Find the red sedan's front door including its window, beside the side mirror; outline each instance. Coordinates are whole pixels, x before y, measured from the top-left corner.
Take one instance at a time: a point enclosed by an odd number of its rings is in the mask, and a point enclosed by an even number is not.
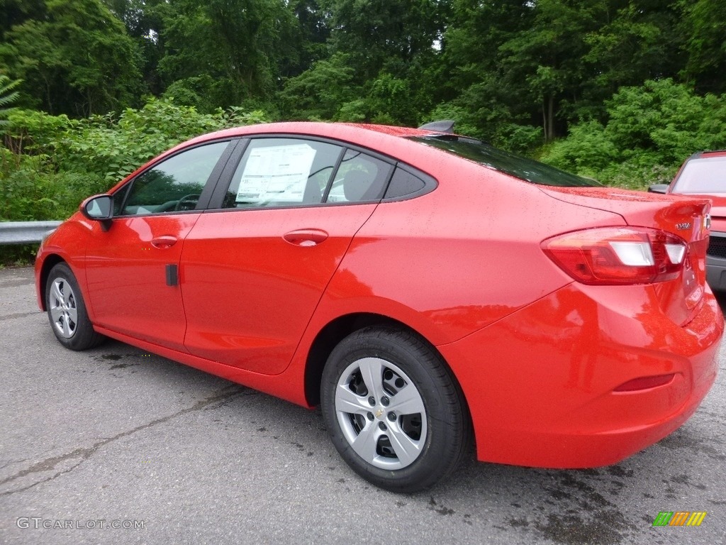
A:
[[[94,324],[184,350],[179,257],[234,144],[182,150],[114,194],[110,228],[94,222],[86,249]]]

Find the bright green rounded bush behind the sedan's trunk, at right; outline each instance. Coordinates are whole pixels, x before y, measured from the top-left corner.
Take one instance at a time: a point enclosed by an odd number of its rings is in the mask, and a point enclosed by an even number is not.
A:
[[[726,144],[726,95],[696,95],[670,79],[624,87],[606,102],[608,121],[585,121],[542,150],[541,160],[608,185],[670,182],[698,150]]]

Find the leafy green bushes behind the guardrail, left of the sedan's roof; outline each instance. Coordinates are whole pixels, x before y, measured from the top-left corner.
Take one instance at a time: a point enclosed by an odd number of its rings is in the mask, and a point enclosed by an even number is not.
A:
[[[151,99],[116,118],[71,120],[32,110],[8,118],[0,147],[0,219],[63,219],[88,195],[102,193],[139,166],[199,134],[266,121],[260,111],[200,114]]]

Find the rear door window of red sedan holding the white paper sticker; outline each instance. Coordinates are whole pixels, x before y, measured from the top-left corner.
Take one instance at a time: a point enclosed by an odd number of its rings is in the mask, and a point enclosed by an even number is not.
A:
[[[343,148],[296,138],[250,141],[232,176],[224,208],[309,206],[322,202]]]

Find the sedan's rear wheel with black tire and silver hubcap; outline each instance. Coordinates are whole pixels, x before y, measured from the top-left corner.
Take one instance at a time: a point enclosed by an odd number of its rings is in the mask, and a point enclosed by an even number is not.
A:
[[[320,394],[340,456],[388,491],[430,488],[470,445],[460,388],[436,350],[410,331],[376,326],[348,335],[325,364]]]

